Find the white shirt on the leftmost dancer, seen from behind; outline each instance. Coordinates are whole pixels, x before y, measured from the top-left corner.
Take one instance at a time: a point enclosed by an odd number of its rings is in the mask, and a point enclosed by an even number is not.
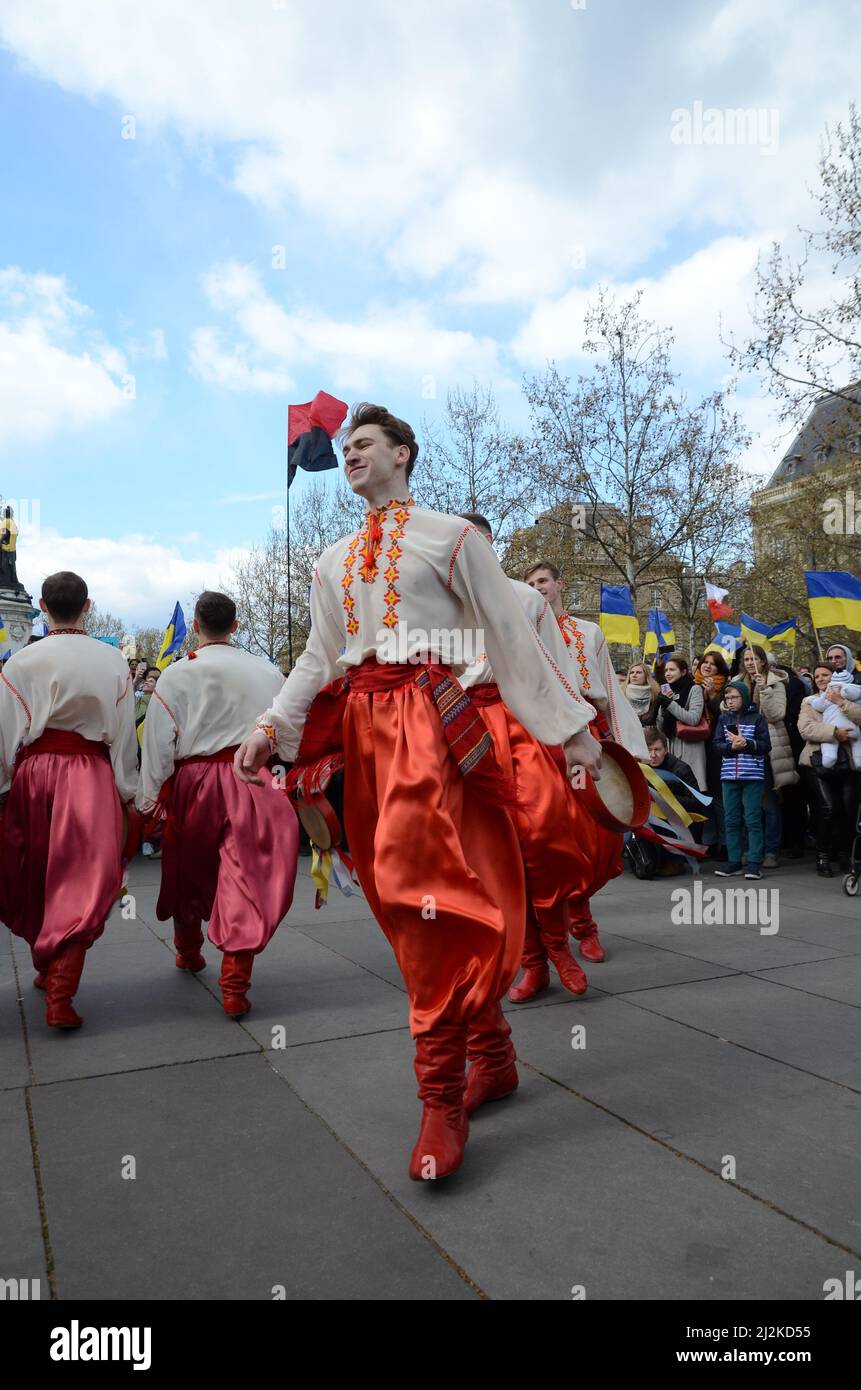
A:
[[[107,744],[120,799],[135,795],[138,735],[128,662],[108,642],[57,632],[24,646],[0,674],[0,795],[15,753],[46,728]]]

